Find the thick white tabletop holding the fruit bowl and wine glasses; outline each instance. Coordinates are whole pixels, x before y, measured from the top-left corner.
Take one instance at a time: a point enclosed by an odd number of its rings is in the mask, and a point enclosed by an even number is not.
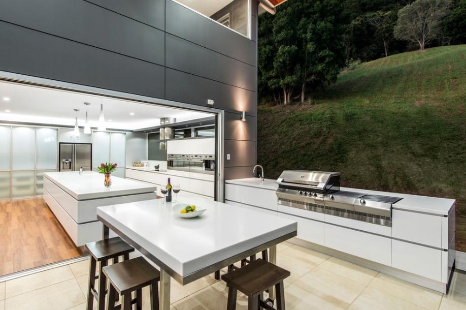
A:
[[[296,222],[275,215],[192,196],[178,200],[207,210],[183,219],[172,203],[156,199],[98,207],[97,215],[181,276],[297,230]]]

